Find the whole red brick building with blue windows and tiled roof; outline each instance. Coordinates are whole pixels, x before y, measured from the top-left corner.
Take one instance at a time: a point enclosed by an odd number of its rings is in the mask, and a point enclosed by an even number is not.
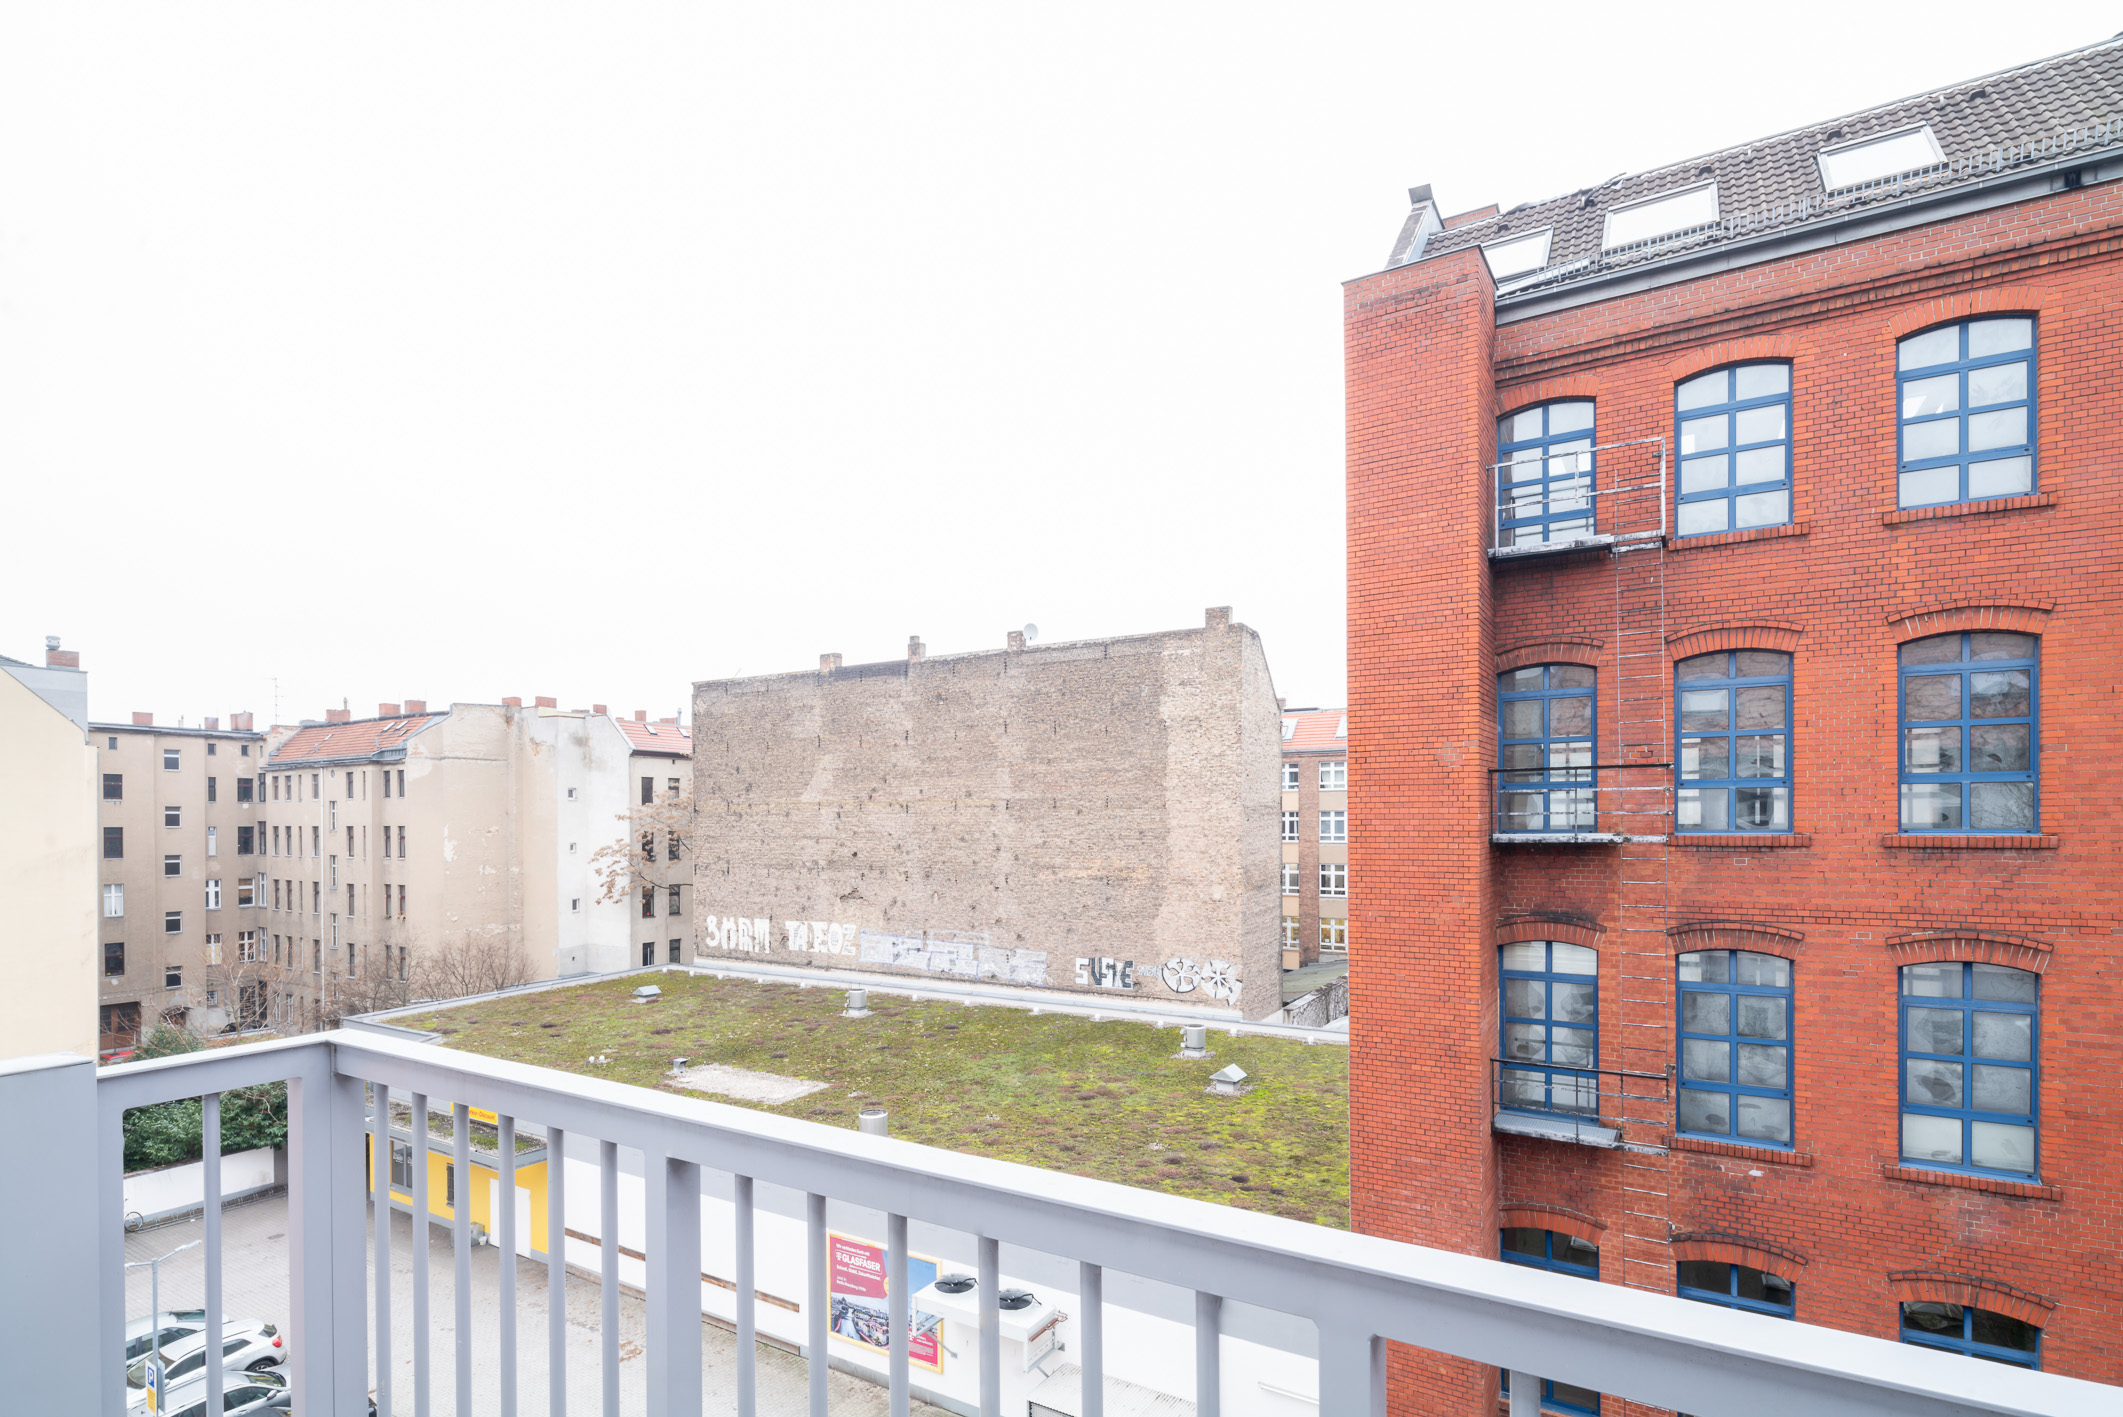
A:
[[[1348,283],[1361,1230],[2123,1381],[2119,115],[2123,36]]]

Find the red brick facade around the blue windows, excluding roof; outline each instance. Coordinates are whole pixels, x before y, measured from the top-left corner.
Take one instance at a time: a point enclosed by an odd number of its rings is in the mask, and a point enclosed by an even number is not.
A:
[[[1802,1321],[1881,1338],[1904,1298],[1974,1302],[2040,1324],[2047,1370],[2123,1381],[2095,1239],[2123,1213],[2119,257],[2102,181],[1501,325],[1475,251],[1346,287],[1359,1230],[1484,1256],[1501,1224],[1596,1234],[1603,1283],[1669,1294],[1679,1258],[1758,1264]],[[1898,512],[1896,340],[1983,312],[2038,321],[2038,493]],[[1497,414],[1588,397],[1603,444],[1673,438],[1675,385],[1741,359],[1792,363],[1792,525],[1486,559]],[[1983,627],[2040,635],[2040,831],[1902,837],[1896,648]],[[1645,644],[1669,703],[1677,659],[1794,654],[1794,833],[1492,843],[1497,673],[1592,665],[1607,765]],[[1675,1060],[1675,954],[1794,960],[1796,1145],[1675,1139],[1671,1103],[1624,1128],[1641,1149],[1497,1134],[1512,939],[1599,950],[1601,1066],[1641,1073]],[[1896,967],[1923,960],[2040,973],[2038,1183],[1902,1164]],[[1393,1370],[1397,1413],[1495,1411],[1490,1370]]]

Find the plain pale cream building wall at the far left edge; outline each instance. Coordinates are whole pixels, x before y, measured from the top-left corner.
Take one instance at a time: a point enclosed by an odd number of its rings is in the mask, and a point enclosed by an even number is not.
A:
[[[96,1056],[96,750],[81,656],[0,656],[0,1062]]]

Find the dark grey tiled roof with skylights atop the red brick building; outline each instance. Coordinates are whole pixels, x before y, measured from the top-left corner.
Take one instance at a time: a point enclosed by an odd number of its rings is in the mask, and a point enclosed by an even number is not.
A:
[[[1834,193],[1824,185],[1822,149],[1921,125],[1930,125],[1938,138],[1943,164]],[[1488,246],[1548,227],[1552,236],[1546,268],[1501,278],[1499,289],[1509,293],[1652,263],[1775,227],[1798,227],[1866,204],[2093,149],[2123,149],[2123,36],[1650,172],[1613,176],[1546,202],[1524,202],[1495,217],[1433,232],[1420,249],[1414,232],[1418,206],[1393,263]],[[1715,225],[1626,249],[1601,249],[1605,219],[1616,208],[1711,181],[1718,183]]]

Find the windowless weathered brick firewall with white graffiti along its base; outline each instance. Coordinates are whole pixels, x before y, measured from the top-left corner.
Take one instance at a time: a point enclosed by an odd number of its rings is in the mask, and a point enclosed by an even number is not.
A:
[[[701,958],[1282,1003],[1280,716],[1225,612],[694,684],[694,803]]]

